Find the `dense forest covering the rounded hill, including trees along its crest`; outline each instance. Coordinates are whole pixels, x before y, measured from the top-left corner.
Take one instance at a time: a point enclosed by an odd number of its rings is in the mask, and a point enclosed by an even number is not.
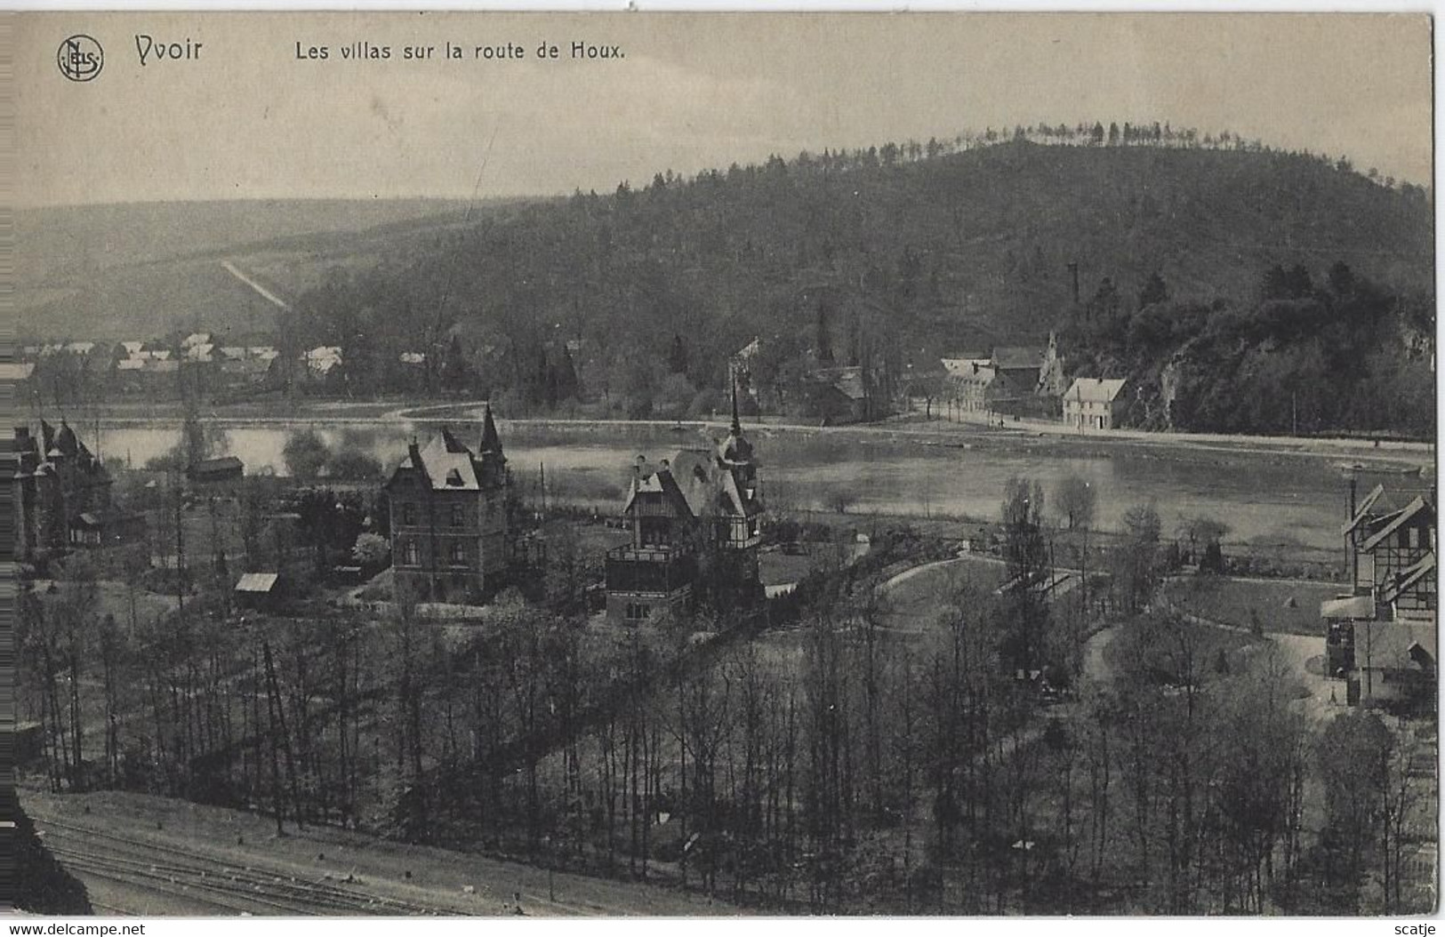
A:
[[[1425,189],[1344,159],[1157,126],[1019,127],[695,178],[663,172],[642,188],[490,206],[432,244],[338,267],[285,318],[282,345],[341,347],[348,393],[451,388],[504,396],[510,411],[577,398],[670,417],[711,400],[728,357],[753,338],[762,339],[754,377],[782,398],[764,407],[786,409],[789,385],[818,359],[866,365],[902,391],[939,355],[1042,341],[1052,329],[1072,341],[1061,349],[1071,371],[1127,365],[1157,388],[1175,362],[1165,383],[1186,387],[1237,338],[1269,367],[1246,359],[1234,370],[1277,371],[1270,355],[1290,344],[1290,329],[1340,315],[1350,322],[1290,352],[1300,358],[1287,368],[1305,398],[1299,426],[1374,427],[1381,407],[1314,406],[1306,374],[1345,372],[1361,398],[1415,393],[1394,384],[1413,380],[1397,374],[1410,341],[1425,358],[1432,351],[1429,219]],[[1348,267],[1344,293],[1328,273],[1335,263]],[[1261,290],[1276,267],[1308,271],[1321,289]],[[1166,302],[1136,302],[1160,282]],[[1095,290],[1113,302],[1108,328],[1095,319],[1071,329]],[[1283,322],[1279,303],[1309,309]],[[1143,306],[1155,306],[1147,347],[1120,354],[1117,335],[1094,334],[1127,334]],[[1225,313],[1207,338],[1195,335],[1199,309]],[[1182,322],[1170,322],[1176,312]],[[1266,322],[1248,325],[1256,319]],[[1367,352],[1345,344],[1361,329]],[[1347,349],[1360,359],[1341,364]],[[403,352],[426,354],[426,364],[407,367]],[[1290,424],[1225,409],[1211,416],[1182,404],[1173,424]]]

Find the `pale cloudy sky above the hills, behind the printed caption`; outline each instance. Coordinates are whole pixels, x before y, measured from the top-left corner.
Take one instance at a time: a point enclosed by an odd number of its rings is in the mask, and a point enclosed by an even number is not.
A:
[[[22,208],[610,191],[1081,120],[1227,128],[1416,183],[1432,172],[1423,14],[66,12],[13,29]],[[75,33],[104,49],[92,81],[56,65]],[[201,51],[143,65],[144,36]],[[344,61],[354,42],[392,58]],[[467,58],[445,59],[448,42]],[[556,61],[536,59],[542,42]],[[572,42],[624,58],[571,61]],[[473,58],[506,43],[526,58]],[[403,46],[435,52],[405,61]]]

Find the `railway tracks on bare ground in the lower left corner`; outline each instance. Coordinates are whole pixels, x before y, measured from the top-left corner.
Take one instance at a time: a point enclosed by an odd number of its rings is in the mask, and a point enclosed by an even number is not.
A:
[[[45,832],[46,847],[78,872],[234,914],[462,914],[367,891],[360,882],[329,876],[306,879],[288,871],[227,862],[192,849],[104,833],[42,814],[35,819]]]

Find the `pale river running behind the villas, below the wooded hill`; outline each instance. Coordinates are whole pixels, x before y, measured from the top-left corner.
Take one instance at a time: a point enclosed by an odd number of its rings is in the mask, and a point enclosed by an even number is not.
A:
[[[221,449],[240,456],[247,474],[286,474],[285,422],[223,423]],[[332,446],[358,446],[389,469],[406,455],[415,435],[422,445],[435,424],[406,420],[319,423],[306,420]],[[474,445],[477,423],[454,422]],[[499,422],[516,481],[536,492],[545,475],[548,497],[607,511],[618,508],[637,455],[669,458],[679,448],[707,445],[702,430],[666,424],[574,424]],[[178,424],[103,424],[100,448],[114,462],[136,468],[171,449]],[[714,433],[722,433],[714,427]],[[1298,452],[1230,450],[1199,446],[1085,442],[1027,435],[958,437],[889,432],[759,427],[750,432],[764,497],[775,507],[993,518],[1004,482],[1027,475],[1045,498],[1069,475],[1097,492],[1097,524],[1117,528],[1136,504],[1153,502],[1166,531],[1181,517],[1209,515],[1230,526],[1233,543],[1295,543],[1341,549],[1347,484],[1338,459]],[[1419,475],[1364,474],[1361,495],[1376,482],[1422,487]]]

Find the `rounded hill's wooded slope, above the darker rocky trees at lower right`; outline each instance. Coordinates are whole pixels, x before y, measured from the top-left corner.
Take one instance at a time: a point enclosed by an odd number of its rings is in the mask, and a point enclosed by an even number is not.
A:
[[[390,334],[413,345],[418,322],[519,354],[564,334],[608,365],[662,359],[679,334],[696,383],[754,335],[816,345],[819,321],[838,357],[867,347],[897,364],[1040,339],[1068,309],[1069,263],[1085,297],[1103,277],[1134,296],[1159,273],[1175,299],[1248,302],[1274,264],[1322,274],[1337,260],[1394,290],[1431,290],[1423,191],[1273,152],[825,154],[491,215],[449,245],[418,241],[312,293],[303,331],[345,344],[371,308],[383,319],[373,338],[403,312],[407,328]]]

